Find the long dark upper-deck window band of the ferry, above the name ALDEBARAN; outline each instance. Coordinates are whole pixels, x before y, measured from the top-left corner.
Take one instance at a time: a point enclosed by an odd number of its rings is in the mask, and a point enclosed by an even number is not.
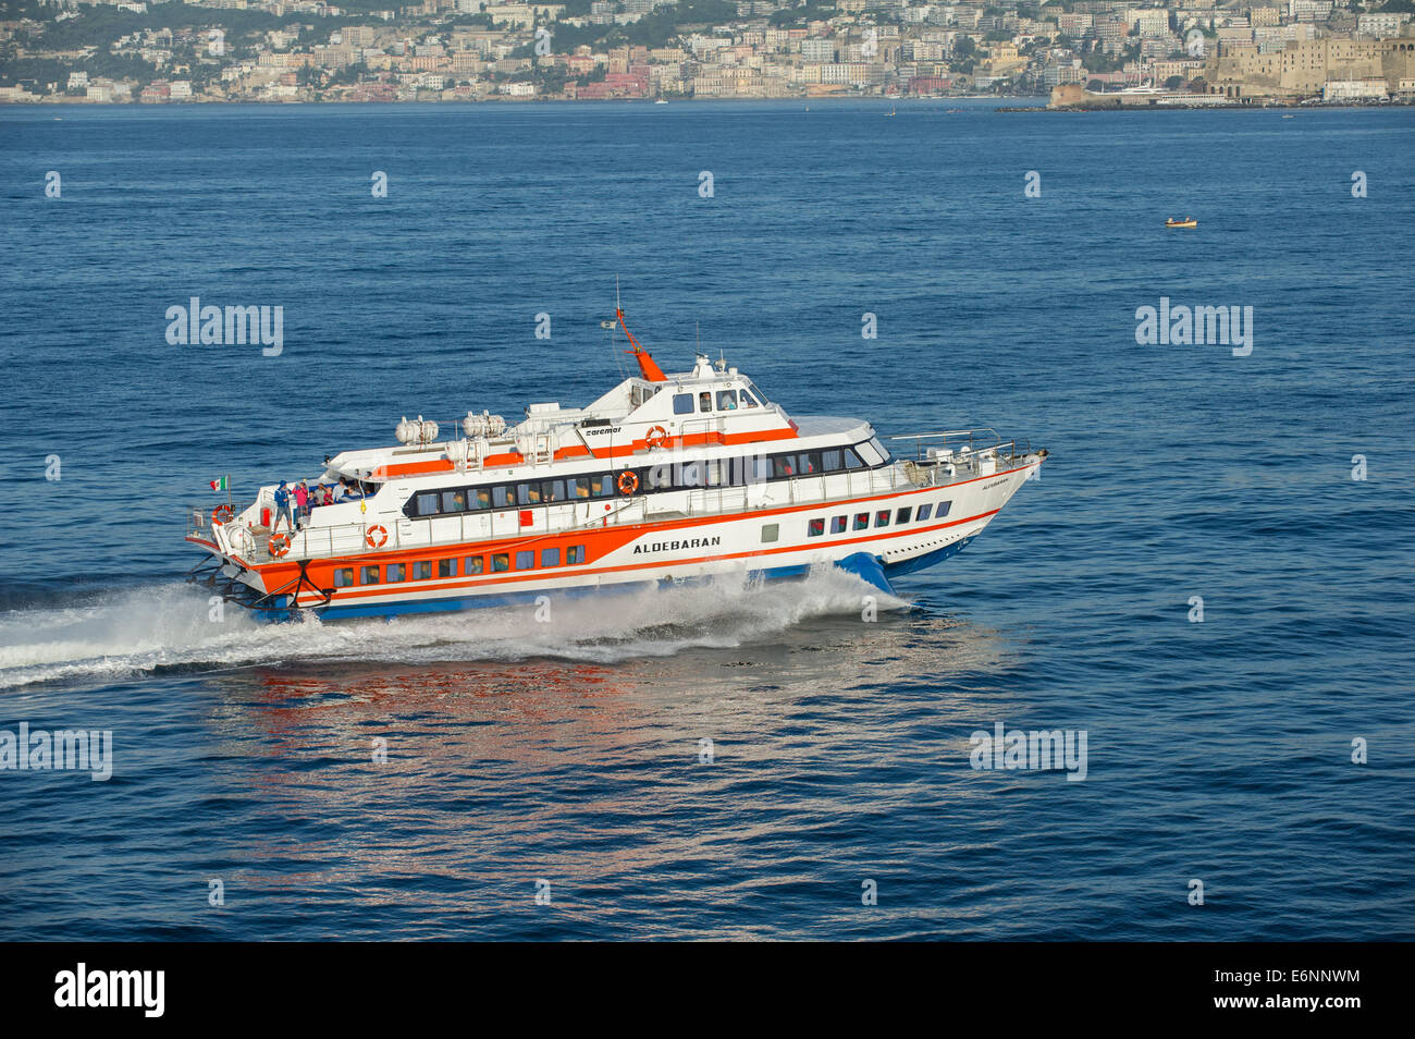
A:
[[[879,461],[870,459],[879,459]],[[873,469],[887,461],[889,454],[879,440],[869,440],[855,447],[750,454],[737,459],[703,459],[623,471],[634,474],[640,491],[675,491],[698,487],[743,487],[771,480],[791,480],[798,476],[845,473]],[[483,487],[419,491],[403,505],[403,514],[409,518],[426,520],[434,515],[611,498],[617,494],[616,481],[620,477],[621,473],[594,473],[593,476],[572,476],[560,480],[522,480]]]

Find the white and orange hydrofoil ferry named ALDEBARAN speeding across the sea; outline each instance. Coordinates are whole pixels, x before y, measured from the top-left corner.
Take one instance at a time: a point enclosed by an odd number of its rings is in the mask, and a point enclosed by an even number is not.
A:
[[[638,375],[584,408],[533,403],[514,426],[468,412],[441,439],[405,418],[398,446],[327,459],[310,483],[352,493],[293,531],[279,484],[194,508],[187,541],[207,558],[191,579],[273,620],[816,566],[893,592],[978,536],[1047,456],[972,429],[893,437],[899,457],[862,419],[790,416],[722,360],[665,374],[623,310],[614,324]]]

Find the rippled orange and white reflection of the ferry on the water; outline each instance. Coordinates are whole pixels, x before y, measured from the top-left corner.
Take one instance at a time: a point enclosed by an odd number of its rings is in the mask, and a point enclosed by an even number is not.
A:
[[[623,897],[628,878],[775,855],[788,834],[839,814],[836,784],[882,783],[886,753],[894,767],[906,745],[937,759],[947,719],[976,709],[968,688],[1016,655],[996,633],[913,609],[616,664],[325,661],[214,675],[212,756],[243,818],[236,888],[275,900],[357,889],[368,903],[416,890],[429,905],[480,890],[515,905],[546,878],[573,906]],[[379,739],[386,763],[374,760]],[[874,804],[901,796],[883,781]],[[730,873],[729,905],[750,895],[732,893],[741,878]],[[818,882],[819,863],[788,856],[773,876]]]

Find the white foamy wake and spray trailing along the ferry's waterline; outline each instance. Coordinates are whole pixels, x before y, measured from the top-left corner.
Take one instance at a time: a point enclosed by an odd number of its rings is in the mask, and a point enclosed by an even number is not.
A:
[[[67,609],[0,614],[0,689],[41,681],[119,679],[163,667],[219,668],[300,660],[477,661],[563,657],[611,664],[665,657],[688,647],[734,647],[811,617],[859,613],[901,600],[824,566],[799,582],[747,582],[726,575],[686,586],[501,606],[321,623],[266,624],[226,606],[209,619],[208,593],[184,583],[117,593]]]

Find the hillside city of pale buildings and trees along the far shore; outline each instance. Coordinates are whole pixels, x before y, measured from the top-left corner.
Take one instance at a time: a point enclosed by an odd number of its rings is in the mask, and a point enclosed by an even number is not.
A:
[[[376,1],[376,0],[375,0]],[[391,0],[389,0],[391,1]],[[829,0],[822,0],[829,3]],[[47,0],[0,23],[0,101],[814,98],[1165,88],[1415,99],[1411,16],[1361,0]]]

